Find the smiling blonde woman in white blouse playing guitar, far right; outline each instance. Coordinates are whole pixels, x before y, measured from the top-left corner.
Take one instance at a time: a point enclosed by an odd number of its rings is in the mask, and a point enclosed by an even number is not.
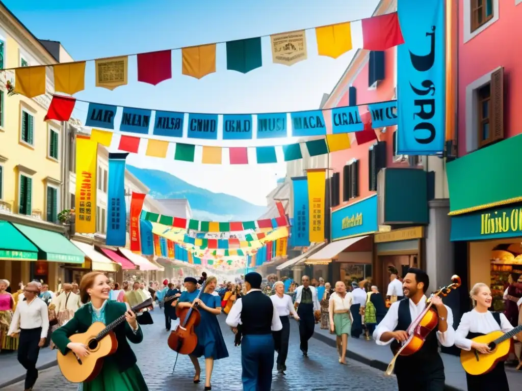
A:
[[[487,354],[490,348],[487,344],[479,344],[471,339],[480,335],[501,330],[510,332],[513,326],[501,312],[491,312],[492,297],[488,285],[478,283],[469,292],[473,299],[474,308],[462,315],[460,324],[455,332],[455,346],[463,350],[476,349],[480,353]],[[500,361],[492,371],[482,375],[470,375],[466,373],[468,389],[473,391],[509,391],[504,362]]]

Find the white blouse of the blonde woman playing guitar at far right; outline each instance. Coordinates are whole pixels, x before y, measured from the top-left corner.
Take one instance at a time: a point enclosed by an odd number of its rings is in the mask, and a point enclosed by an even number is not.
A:
[[[478,312],[473,309],[462,314],[460,323],[455,331],[455,346],[463,350],[471,350],[471,339],[466,338],[469,332],[489,334],[500,330],[503,333],[508,333],[512,329],[513,326],[503,313],[500,314],[499,326],[491,311]]]

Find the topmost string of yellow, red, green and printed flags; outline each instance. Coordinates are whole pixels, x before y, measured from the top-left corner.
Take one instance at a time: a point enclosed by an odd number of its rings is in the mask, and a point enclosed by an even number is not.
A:
[[[404,43],[396,12],[336,25],[316,27],[314,30],[317,54],[331,58],[337,58],[353,48],[358,48],[357,46],[366,50],[384,51]],[[362,45],[357,45],[357,37],[360,36],[360,33],[362,33]],[[290,66],[308,58],[306,30],[269,36],[274,64]],[[226,45],[227,70],[246,74],[263,66],[261,38],[263,36],[158,52],[138,53],[136,54],[137,81],[157,85],[164,80],[171,79],[172,51],[177,50],[181,50],[183,75],[201,79],[215,73],[216,45],[218,43]],[[114,90],[128,83],[129,55],[97,58],[49,66],[49,68],[53,68],[55,92],[74,95],[84,90],[87,61],[94,61],[96,70],[94,84],[96,87]],[[46,68],[48,66],[35,65],[5,68],[3,70],[15,71],[15,93],[35,97],[46,92]]]

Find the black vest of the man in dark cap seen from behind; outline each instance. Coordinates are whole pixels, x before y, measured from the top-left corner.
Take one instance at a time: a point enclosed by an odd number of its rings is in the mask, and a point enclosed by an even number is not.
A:
[[[262,291],[249,292],[241,298],[241,332],[243,335],[272,333],[274,304]]]

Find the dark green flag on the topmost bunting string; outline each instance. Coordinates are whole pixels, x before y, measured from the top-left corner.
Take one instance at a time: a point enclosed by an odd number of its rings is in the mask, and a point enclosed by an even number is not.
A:
[[[246,74],[263,66],[261,37],[227,42],[227,69]]]

